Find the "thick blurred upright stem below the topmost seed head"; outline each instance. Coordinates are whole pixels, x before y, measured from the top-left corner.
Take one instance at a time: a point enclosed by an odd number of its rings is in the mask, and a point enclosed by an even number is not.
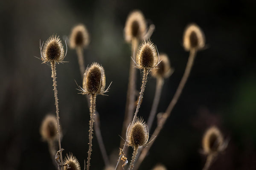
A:
[[[133,38],[131,41],[131,55],[134,58],[138,46],[138,40]],[[134,112],[134,102],[135,102],[135,91],[136,91],[136,68],[134,65],[133,60],[131,59],[130,62],[130,72],[129,72],[129,80],[128,80],[128,89],[127,89],[127,97],[126,97],[126,105],[125,105],[125,118],[122,127],[122,138],[125,139],[126,137],[126,130],[132,120],[133,112]],[[120,147],[122,147],[124,141],[121,140]],[[127,151],[125,152],[125,154]]]

